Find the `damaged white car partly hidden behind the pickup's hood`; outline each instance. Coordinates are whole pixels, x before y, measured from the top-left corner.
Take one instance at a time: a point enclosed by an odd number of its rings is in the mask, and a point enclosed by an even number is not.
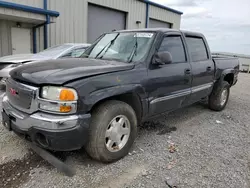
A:
[[[29,62],[58,58],[76,58],[83,54],[90,44],[62,44],[43,50],[37,54],[18,54],[0,58],[0,85],[5,85],[9,72],[14,68]]]

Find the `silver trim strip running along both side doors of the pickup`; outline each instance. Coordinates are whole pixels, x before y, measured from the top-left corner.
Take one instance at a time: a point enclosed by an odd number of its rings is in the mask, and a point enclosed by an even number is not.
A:
[[[157,103],[157,102],[174,99],[174,98],[177,98],[177,97],[183,97],[183,96],[186,96],[186,95],[190,95],[192,93],[196,93],[196,92],[199,92],[199,91],[202,91],[202,90],[209,89],[212,86],[213,86],[213,82],[208,83],[208,84],[203,84],[203,85],[200,85],[200,86],[196,86],[196,87],[192,87],[192,88],[190,88],[190,91],[183,91],[183,92],[180,92],[180,93],[176,93],[176,94],[172,94],[172,95],[168,95],[168,96],[153,99],[152,101],[150,101],[150,104],[154,104],[154,103]]]

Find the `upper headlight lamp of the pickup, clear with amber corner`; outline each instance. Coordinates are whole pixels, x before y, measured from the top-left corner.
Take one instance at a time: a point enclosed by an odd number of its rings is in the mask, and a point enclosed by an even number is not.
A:
[[[77,93],[74,89],[64,87],[42,87],[41,97],[53,101],[76,101]]]

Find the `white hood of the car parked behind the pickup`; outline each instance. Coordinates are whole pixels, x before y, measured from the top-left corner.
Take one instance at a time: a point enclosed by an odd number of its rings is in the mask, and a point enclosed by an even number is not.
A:
[[[1,63],[24,63],[24,62],[31,62],[31,61],[39,61],[39,60],[47,60],[51,59],[51,57],[41,56],[38,54],[18,54],[18,55],[10,55],[4,56],[0,58]]]

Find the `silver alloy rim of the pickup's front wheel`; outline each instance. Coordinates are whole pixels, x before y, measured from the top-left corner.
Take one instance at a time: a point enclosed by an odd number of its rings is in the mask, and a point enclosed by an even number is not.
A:
[[[126,116],[116,116],[108,125],[105,134],[106,147],[111,152],[120,151],[128,142],[130,122]]]

